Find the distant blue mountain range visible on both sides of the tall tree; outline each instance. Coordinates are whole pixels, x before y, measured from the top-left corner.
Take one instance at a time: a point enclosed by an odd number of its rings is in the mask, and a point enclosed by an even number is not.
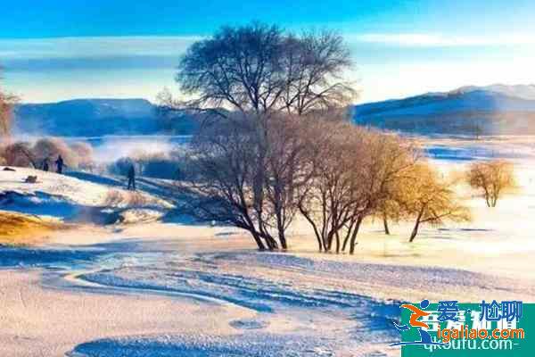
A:
[[[461,87],[354,107],[360,125],[420,134],[535,134],[535,85]],[[61,137],[190,134],[191,118],[162,117],[144,99],[78,99],[21,104],[15,133]]]

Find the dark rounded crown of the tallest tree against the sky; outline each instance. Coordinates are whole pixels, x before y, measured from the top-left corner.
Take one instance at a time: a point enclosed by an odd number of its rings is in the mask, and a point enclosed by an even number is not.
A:
[[[192,98],[188,108],[218,115],[226,115],[221,107],[303,115],[350,103],[356,92],[342,80],[350,67],[350,51],[337,34],[296,37],[253,23],[225,27],[193,44],[178,65],[176,80]]]

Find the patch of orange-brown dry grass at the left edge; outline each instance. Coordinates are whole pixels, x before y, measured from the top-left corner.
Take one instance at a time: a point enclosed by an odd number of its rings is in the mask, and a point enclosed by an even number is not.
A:
[[[0,212],[0,245],[36,245],[43,243],[60,223],[12,212]]]

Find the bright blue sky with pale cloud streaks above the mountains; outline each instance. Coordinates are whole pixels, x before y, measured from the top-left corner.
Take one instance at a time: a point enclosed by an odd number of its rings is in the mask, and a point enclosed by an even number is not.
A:
[[[193,41],[250,21],[337,29],[353,50],[360,102],[464,85],[535,82],[532,1],[59,1],[3,8],[4,87],[25,102],[177,91]],[[178,94],[178,93],[177,93]]]

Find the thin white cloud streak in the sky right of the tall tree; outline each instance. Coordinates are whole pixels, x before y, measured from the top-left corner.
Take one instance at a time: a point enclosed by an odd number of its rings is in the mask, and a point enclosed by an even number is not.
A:
[[[461,47],[461,46],[522,46],[535,45],[535,34],[499,34],[496,36],[455,36],[440,34],[363,34],[348,39],[388,46]]]

